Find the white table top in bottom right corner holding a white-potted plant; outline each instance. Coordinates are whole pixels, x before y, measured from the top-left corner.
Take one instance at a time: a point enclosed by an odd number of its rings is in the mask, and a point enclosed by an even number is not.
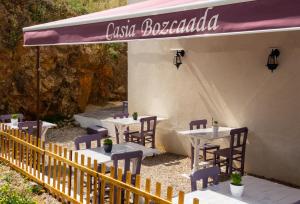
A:
[[[198,198],[201,204],[292,204],[300,200],[300,189],[253,176],[244,176],[243,183],[245,190],[241,198],[231,195],[227,181],[185,194],[184,203],[193,203],[194,198]],[[178,197],[173,198],[173,203],[178,203]]]

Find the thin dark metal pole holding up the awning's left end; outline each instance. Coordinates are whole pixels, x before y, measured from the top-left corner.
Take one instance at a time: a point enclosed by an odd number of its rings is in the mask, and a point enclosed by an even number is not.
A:
[[[40,47],[36,47],[36,121],[37,121],[37,136],[36,146],[38,146],[38,139],[40,139]]]

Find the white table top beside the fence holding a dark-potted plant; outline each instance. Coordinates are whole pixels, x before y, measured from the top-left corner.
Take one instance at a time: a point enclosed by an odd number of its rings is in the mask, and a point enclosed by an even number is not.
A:
[[[90,157],[93,160],[97,160],[99,163],[107,163],[111,161],[111,155],[114,153],[124,153],[124,152],[132,152],[132,151],[143,151],[143,158],[153,156],[155,154],[159,154],[159,151],[152,148],[147,148],[143,145],[139,145],[136,143],[122,143],[122,144],[113,144],[113,148],[111,153],[106,153],[103,147],[97,147],[92,149],[84,149],[74,151],[78,152],[79,158],[80,155],[84,155],[87,159]]]

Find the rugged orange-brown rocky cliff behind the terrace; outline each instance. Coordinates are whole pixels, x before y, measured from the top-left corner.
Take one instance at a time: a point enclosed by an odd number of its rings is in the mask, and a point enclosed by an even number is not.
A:
[[[22,28],[111,7],[107,2],[0,0],[0,114],[35,115],[35,49],[23,47]],[[126,44],[43,47],[41,68],[43,116],[126,99]]]

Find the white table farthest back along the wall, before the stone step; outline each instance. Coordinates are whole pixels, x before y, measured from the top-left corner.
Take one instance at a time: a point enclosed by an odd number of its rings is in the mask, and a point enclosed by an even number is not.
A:
[[[107,118],[102,120],[104,123],[111,123],[117,127],[120,133],[126,131],[126,128],[129,126],[139,125],[141,118],[146,118],[149,116],[139,116],[137,120],[134,120],[133,117],[128,118]],[[157,117],[157,123],[166,120],[165,118]],[[125,140],[123,137],[120,137],[120,143],[124,143]]]

